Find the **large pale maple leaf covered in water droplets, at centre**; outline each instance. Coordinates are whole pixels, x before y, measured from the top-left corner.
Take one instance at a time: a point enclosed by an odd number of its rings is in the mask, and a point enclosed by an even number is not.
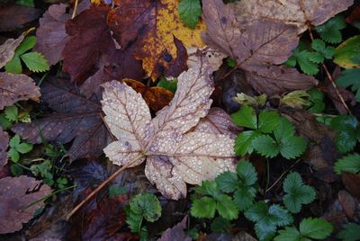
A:
[[[210,66],[199,62],[179,76],[174,99],[151,120],[148,105],[130,86],[104,84],[104,119],[118,138],[104,153],[116,165],[147,160],[148,180],[175,200],[186,196],[185,183],[200,184],[234,170],[233,138],[191,130],[210,110],[212,85]]]

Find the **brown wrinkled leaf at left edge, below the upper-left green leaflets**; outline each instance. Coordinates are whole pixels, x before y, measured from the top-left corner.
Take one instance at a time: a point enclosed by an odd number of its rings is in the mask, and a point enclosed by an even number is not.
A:
[[[0,73],[0,110],[18,101],[29,99],[38,101],[39,97],[40,88],[35,85],[31,77]]]

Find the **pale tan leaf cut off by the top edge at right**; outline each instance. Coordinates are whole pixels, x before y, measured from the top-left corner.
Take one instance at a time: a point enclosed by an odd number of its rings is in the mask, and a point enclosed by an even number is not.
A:
[[[301,33],[308,29],[308,23],[318,26],[353,3],[354,0],[253,0],[238,1],[234,10],[243,25],[254,20],[284,22],[297,26]]]

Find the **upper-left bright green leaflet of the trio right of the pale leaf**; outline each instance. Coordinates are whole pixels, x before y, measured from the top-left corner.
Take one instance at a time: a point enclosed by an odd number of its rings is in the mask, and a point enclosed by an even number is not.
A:
[[[257,115],[251,106],[241,106],[238,112],[231,115],[231,119],[240,127],[257,129]]]

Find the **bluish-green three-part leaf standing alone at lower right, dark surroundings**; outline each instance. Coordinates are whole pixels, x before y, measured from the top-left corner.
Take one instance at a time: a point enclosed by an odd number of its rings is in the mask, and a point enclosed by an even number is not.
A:
[[[302,210],[302,204],[309,204],[315,199],[316,192],[314,188],[302,183],[302,177],[298,173],[288,174],[283,184],[283,201],[285,207],[293,213]]]

